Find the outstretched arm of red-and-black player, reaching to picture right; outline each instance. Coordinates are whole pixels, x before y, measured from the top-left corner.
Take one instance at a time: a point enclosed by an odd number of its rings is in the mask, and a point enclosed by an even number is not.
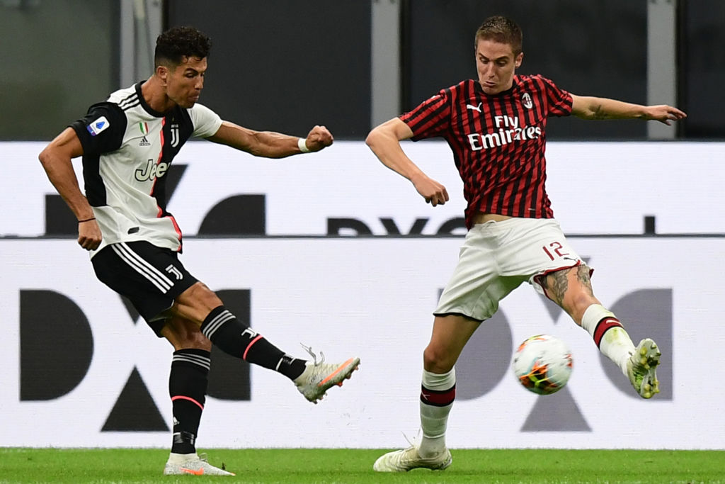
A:
[[[676,107],[667,104],[643,106],[629,102],[607,99],[605,97],[571,95],[571,114],[582,119],[642,119],[660,121],[670,125],[670,121],[687,118]]]

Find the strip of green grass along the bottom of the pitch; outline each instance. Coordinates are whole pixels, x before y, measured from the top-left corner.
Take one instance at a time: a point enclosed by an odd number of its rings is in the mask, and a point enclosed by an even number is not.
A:
[[[158,448],[0,448],[0,483],[725,483],[725,451],[454,449],[445,471],[380,474],[382,452],[213,449],[236,477],[166,477]]]

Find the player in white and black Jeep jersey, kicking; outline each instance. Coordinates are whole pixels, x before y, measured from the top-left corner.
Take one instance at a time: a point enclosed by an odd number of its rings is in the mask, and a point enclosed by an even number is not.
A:
[[[360,364],[360,358],[324,363],[310,348],[312,361],[284,353],[239,321],[178,259],[181,230],[166,210],[165,173],[191,136],[269,158],[316,152],[333,142],[325,126],[305,138],[252,131],[198,104],[210,47],[210,38],[195,28],[162,33],[148,80],[92,105],[39,155],[78,218],[78,243],[90,251],[96,276],[128,298],[175,350],[169,377],[173,442],[165,475],[233,475],[196,454],[212,344],[283,374],[313,403]],[[71,164],[81,155],[85,196]]]

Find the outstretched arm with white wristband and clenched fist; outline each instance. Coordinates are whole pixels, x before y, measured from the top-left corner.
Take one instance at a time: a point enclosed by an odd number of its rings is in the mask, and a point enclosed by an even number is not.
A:
[[[302,139],[273,131],[254,131],[229,121],[223,121],[218,131],[207,139],[266,158],[283,158],[307,151],[320,151],[334,141],[325,126],[315,126],[307,134],[307,138]]]

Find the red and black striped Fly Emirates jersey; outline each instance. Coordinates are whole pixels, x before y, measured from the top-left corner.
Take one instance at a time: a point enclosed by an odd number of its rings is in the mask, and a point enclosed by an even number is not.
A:
[[[442,136],[463,179],[466,226],[476,213],[552,218],[546,193],[546,123],[571,114],[571,94],[541,75],[514,75],[486,94],[478,81],[442,89],[400,116],[413,141]]]

